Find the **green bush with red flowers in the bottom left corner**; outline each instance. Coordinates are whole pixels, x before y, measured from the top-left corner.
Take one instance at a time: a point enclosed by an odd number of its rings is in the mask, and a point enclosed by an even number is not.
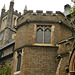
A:
[[[11,75],[11,66],[6,63],[4,65],[0,64],[0,75]]]

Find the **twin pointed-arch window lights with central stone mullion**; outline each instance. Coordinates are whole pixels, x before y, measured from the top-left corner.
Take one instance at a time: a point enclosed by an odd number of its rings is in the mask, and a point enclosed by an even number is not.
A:
[[[37,25],[36,43],[51,43],[51,25]]]

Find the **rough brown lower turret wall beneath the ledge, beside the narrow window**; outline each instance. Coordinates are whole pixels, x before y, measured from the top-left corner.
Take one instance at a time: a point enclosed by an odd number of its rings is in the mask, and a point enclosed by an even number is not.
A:
[[[57,47],[28,46],[23,49],[21,75],[55,75],[58,61]],[[14,67],[16,72],[16,51],[14,52]]]

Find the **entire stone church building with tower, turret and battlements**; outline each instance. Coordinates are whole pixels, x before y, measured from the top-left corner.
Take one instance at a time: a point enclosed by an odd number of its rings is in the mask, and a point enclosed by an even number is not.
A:
[[[12,75],[75,75],[75,17],[64,13],[2,8],[0,63],[10,63]]]

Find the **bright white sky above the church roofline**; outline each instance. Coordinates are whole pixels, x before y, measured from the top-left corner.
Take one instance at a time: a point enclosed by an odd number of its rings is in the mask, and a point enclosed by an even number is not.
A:
[[[9,8],[11,0],[0,0],[0,12],[5,4],[6,10]],[[64,12],[64,5],[73,5],[71,0],[14,0],[14,9],[23,13],[25,5],[27,5],[28,10],[43,10],[47,11],[61,11]]]

